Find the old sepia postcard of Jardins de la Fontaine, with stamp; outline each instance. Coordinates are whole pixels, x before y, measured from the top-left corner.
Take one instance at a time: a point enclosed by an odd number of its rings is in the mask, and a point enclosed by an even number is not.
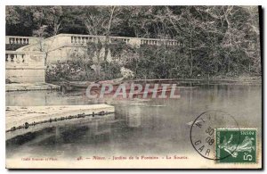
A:
[[[8,169],[262,169],[261,6],[5,6]]]

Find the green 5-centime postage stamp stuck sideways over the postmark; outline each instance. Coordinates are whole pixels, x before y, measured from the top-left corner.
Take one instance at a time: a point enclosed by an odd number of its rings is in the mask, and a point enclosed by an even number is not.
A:
[[[219,163],[255,163],[255,128],[216,128],[215,156]]]

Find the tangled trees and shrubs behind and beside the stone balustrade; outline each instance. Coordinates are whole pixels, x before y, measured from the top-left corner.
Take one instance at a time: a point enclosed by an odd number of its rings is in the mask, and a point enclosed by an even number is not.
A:
[[[262,73],[257,6],[6,6],[5,20],[6,35],[12,36],[33,36],[44,26],[43,37],[105,36],[87,46],[85,79],[93,64],[101,67],[99,78],[111,78],[123,66],[147,79]],[[109,36],[172,38],[180,45],[138,48],[110,44]],[[108,50],[114,62],[107,61]]]

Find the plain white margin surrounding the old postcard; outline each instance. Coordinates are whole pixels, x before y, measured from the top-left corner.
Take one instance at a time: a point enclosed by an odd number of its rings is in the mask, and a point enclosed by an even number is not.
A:
[[[4,1],[4,2],[3,2]],[[4,36],[5,36],[5,29],[4,29],[4,23],[5,23],[5,12],[4,12],[4,6],[5,5],[26,5],[26,4],[36,4],[36,5],[61,5],[61,4],[65,4],[65,5],[95,5],[95,4],[112,4],[112,5],[226,5],[226,4],[231,4],[231,5],[263,5],[263,9],[265,9],[265,15],[264,15],[264,40],[266,40],[267,34],[266,34],[266,9],[267,9],[267,0],[219,0],[219,1],[215,1],[215,0],[168,0],[168,1],[163,1],[163,0],[135,0],[135,1],[125,1],[125,0],[89,0],[89,1],[85,1],[85,0],[81,0],[81,1],[73,1],[73,0],[45,0],[45,1],[31,1],[29,2],[29,0],[2,0],[0,2],[0,23],[1,28],[0,28],[0,33],[1,36],[3,36],[3,39],[0,39],[0,49],[1,49],[1,55],[2,55],[2,59],[1,59],[1,63],[0,63],[0,77],[1,77],[1,114],[0,114],[0,122],[2,123],[1,126],[1,156],[0,156],[0,169],[3,173],[7,173],[9,172],[9,170],[5,170],[5,140],[4,140],[4,115],[5,115],[5,90],[4,90],[4,82],[5,82],[5,77],[4,77],[4,71],[5,71],[5,61],[4,61],[4,51],[5,51],[5,41],[4,41]],[[266,42],[264,43],[264,53],[266,54]],[[266,60],[264,61],[264,68],[266,69]],[[266,71],[266,70],[265,70]],[[264,74],[264,81],[266,81],[266,74]],[[264,90],[265,90],[265,94],[266,94],[266,85],[264,86]],[[266,102],[264,103],[264,108],[266,108]],[[263,116],[264,117],[264,116]],[[265,126],[266,126],[266,117],[265,117]],[[264,128],[264,130],[266,130],[266,127]],[[267,139],[266,138],[266,131],[264,132],[264,137],[263,139]],[[266,141],[265,141],[266,144]],[[266,145],[265,145],[266,146]],[[264,152],[266,152],[266,150],[264,150]],[[266,158],[264,161],[263,166],[266,168]],[[26,171],[27,172],[27,171]],[[33,171],[33,173],[36,173],[37,171]],[[49,173],[54,173],[56,171],[43,171],[43,172],[49,172]],[[66,172],[66,171],[60,171],[60,172]],[[70,172],[77,172],[75,170],[72,170]],[[95,171],[89,171],[89,172],[95,172]],[[99,171],[98,171],[99,172]],[[101,171],[101,172],[106,172],[106,171]],[[117,171],[113,171],[113,172],[117,172]],[[124,171],[125,172],[125,171]],[[145,172],[145,171],[138,171],[138,172]],[[154,172],[154,171],[152,171]],[[162,170],[160,171],[162,172]],[[163,171],[164,172],[164,171]],[[181,171],[179,170],[178,172],[186,172],[188,173],[188,171]],[[192,171],[190,171],[192,172]],[[206,170],[204,170],[203,172],[206,172]],[[241,170],[239,171],[231,171],[231,172],[243,172]],[[249,173],[255,173],[256,171],[250,171]]]

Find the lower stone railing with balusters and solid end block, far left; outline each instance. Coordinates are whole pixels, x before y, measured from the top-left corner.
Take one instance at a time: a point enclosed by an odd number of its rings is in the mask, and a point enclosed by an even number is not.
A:
[[[5,51],[6,67],[44,67],[44,54],[41,52]]]

